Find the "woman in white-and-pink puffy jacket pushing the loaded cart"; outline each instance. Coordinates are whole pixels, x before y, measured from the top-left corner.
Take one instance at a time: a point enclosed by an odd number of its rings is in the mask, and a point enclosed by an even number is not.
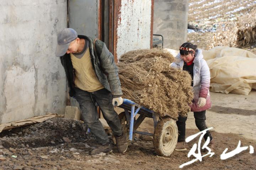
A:
[[[191,112],[194,112],[194,118],[197,128],[202,131],[207,129],[206,110],[211,107],[210,101],[210,70],[203,59],[202,50],[197,49],[197,45],[185,42],[180,47],[180,53],[176,56],[177,61],[172,63],[172,67],[186,70],[192,78],[194,98],[190,105]],[[178,143],[176,151],[186,151],[185,132],[187,117],[178,117],[176,124],[178,126]],[[204,135],[204,140],[210,137],[209,148],[213,150],[213,138],[209,131]]]

